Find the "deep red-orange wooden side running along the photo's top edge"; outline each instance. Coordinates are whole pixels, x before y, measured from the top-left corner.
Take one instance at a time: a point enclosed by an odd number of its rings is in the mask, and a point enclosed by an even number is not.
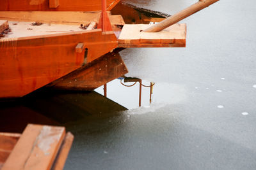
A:
[[[58,8],[50,8],[49,0],[1,0],[0,11],[100,11],[101,0],[59,0]],[[107,0],[111,10],[120,0]]]

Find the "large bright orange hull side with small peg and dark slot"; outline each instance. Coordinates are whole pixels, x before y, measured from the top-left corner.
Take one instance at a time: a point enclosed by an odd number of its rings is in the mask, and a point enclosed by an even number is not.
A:
[[[118,46],[113,32],[100,29],[63,34],[0,39],[0,98],[21,97],[81,67],[84,49],[92,62]]]

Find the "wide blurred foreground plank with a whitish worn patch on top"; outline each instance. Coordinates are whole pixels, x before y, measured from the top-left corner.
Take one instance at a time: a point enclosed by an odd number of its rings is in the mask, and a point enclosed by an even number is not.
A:
[[[50,169],[64,136],[65,127],[29,124],[2,170]]]

